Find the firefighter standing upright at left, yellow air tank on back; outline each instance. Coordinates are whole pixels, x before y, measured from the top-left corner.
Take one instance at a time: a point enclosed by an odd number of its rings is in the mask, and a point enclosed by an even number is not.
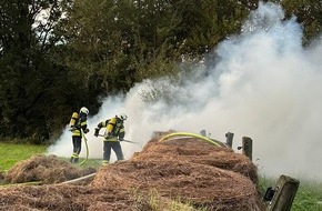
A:
[[[72,132],[72,154],[70,162],[77,163],[79,161],[79,153],[81,152],[81,142],[82,142],[82,132],[88,133],[87,120],[88,120],[89,110],[85,107],[82,107],[79,113],[73,112],[70,120],[70,131]],[[82,130],[81,130],[82,129]]]

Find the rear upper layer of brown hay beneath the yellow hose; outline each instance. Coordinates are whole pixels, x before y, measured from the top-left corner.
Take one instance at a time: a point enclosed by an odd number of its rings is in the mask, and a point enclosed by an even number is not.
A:
[[[177,159],[193,163],[208,164],[239,172],[258,183],[256,165],[245,155],[234,153],[229,148],[217,147],[195,138],[174,139],[159,142],[152,139],[132,160]]]

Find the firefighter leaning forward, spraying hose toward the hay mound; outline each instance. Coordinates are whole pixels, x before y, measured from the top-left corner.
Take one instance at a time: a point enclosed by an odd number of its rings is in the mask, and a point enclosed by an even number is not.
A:
[[[124,131],[124,120],[128,115],[124,113],[117,114],[112,119],[104,120],[98,124],[95,128],[94,135],[98,137],[100,129],[105,128],[104,132],[104,143],[103,143],[103,165],[110,162],[111,150],[114,151],[118,160],[123,160],[123,152],[120,141],[123,141]]]

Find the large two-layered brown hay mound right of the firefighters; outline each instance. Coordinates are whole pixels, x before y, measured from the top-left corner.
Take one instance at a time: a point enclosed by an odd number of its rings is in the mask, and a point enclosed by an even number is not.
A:
[[[256,168],[244,155],[189,138],[151,140],[129,161],[98,172],[92,187],[123,187],[191,202],[211,210],[263,210]]]

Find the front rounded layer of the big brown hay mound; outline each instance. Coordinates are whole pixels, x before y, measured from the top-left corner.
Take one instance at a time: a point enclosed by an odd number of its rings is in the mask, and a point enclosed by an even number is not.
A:
[[[117,162],[102,168],[91,185],[155,189],[162,197],[215,210],[261,210],[256,185],[244,175],[184,160]]]

